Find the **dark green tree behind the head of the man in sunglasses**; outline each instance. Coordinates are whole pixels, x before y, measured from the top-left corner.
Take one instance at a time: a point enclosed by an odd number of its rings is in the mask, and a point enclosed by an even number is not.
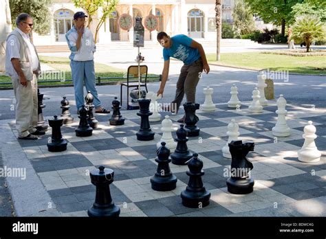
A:
[[[33,31],[38,34],[48,34],[50,32],[51,13],[49,9],[50,5],[52,5],[52,0],[10,0],[9,4],[12,25],[16,25],[17,16],[25,12],[33,18]]]

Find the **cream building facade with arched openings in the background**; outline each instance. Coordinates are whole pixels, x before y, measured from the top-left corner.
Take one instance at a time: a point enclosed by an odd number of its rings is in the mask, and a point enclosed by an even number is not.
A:
[[[222,19],[232,23],[232,10],[235,0],[223,0]],[[69,0],[54,0],[50,8],[52,12],[51,31],[46,36],[34,34],[36,45],[52,45],[65,43],[65,33],[73,25],[74,12],[83,11],[76,8]],[[159,25],[156,31],[145,30],[145,41],[155,40],[157,31],[164,31],[173,36],[186,34],[192,38],[202,38],[213,41],[216,39],[215,0],[120,0],[116,11],[111,18],[100,28],[99,43],[111,41],[132,41],[133,29],[125,31],[120,29],[118,19],[121,14],[142,16],[149,14],[157,16]],[[98,10],[98,16],[101,10]]]

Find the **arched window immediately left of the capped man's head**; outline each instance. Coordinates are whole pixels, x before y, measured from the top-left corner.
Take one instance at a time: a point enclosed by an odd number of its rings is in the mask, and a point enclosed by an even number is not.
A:
[[[53,19],[56,41],[65,41],[65,34],[72,28],[74,12],[69,9],[59,9],[54,12]]]

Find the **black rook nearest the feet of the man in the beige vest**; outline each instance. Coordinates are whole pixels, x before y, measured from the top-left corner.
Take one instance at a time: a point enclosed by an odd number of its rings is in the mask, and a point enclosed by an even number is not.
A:
[[[67,150],[67,140],[63,139],[61,135],[61,126],[63,126],[63,119],[54,115],[52,120],[49,120],[49,125],[52,128],[51,141],[47,143],[47,150],[50,152],[61,152]]]

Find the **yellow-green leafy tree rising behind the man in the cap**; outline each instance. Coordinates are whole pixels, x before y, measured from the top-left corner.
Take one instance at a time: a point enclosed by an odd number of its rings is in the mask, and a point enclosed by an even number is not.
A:
[[[98,24],[96,25],[95,31],[95,39],[97,42],[98,39],[98,31],[105,20],[110,16],[110,14],[116,10],[116,6],[118,5],[118,0],[73,0],[76,8],[83,8],[88,16],[88,24],[87,27],[91,26],[91,23],[94,19],[98,18],[98,10],[102,10],[102,16],[98,19]]]

